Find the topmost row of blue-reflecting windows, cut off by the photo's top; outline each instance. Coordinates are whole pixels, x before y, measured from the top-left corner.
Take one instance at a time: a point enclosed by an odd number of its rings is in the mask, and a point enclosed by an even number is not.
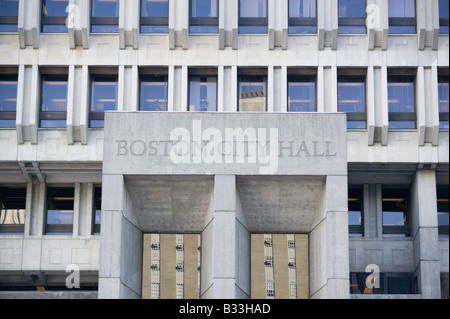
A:
[[[389,0],[389,32],[416,33],[416,0]],[[42,32],[67,32],[69,0],[42,0]],[[141,33],[167,33],[169,0],[140,1]],[[338,0],[338,32],[366,33],[366,0]],[[0,0],[0,32],[17,32],[19,0]],[[268,0],[239,0],[239,33],[268,32]],[[119,0],[91,1],[91,32],[119,31]],[[317,0],[288,1],[288,32],[317,33]],[[449,33],[449,0],[439,0],[440,33]],[[189,1],[189,32],[218,33],[219,0]]]

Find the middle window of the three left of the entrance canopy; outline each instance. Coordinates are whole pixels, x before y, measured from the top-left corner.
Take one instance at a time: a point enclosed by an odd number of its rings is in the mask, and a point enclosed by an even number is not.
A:
[[[73,232],[73,188],[47,189],[47,223],[48,235],[69,235]]]

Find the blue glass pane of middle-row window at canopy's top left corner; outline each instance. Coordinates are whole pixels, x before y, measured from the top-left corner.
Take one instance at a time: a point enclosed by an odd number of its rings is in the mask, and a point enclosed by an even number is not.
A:
[[[114,111],[117,109],[117,79],[94,78],[91,88],[91,111]]]

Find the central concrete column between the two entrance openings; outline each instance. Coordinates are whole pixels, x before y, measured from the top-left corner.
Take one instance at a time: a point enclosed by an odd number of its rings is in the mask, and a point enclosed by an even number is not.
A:
[[[239,209],[234,175],[217,175],[202,232],[201,297],[250,298],[250,233]]]

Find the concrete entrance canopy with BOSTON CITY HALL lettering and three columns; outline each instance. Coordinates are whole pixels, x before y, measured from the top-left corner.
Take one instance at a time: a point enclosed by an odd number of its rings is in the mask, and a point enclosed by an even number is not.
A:
[[[202,298],[249,298],[250,234],[304,233],[310,297],[348,298],[346,117],[107,112],[100,298],[140,298],[144,233],[202,235]]]

